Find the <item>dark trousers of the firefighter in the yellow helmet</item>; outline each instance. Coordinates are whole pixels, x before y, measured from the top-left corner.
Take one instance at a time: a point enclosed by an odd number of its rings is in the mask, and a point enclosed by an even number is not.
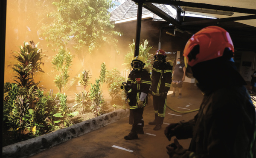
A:
[[[134,116],[134,123],[132,125],[132,128],[136,132],[144,126],[144,121],[143,121],[143,116],[142,116],[143,115],[143,110],[144,110],[144,107],[132,110],[132,113],[133,113],[133,116]]]

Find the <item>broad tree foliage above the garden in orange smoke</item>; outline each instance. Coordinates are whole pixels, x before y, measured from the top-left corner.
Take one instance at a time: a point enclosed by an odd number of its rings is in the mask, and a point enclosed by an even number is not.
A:
[[[52,23],[43,27],[49,46],[73,44],[76,50],[93,51],[103,44],[116,46],[114,25],[110,22],[108,8],[111,0],[59,0],[52,3],[56,10],[48,14]]]

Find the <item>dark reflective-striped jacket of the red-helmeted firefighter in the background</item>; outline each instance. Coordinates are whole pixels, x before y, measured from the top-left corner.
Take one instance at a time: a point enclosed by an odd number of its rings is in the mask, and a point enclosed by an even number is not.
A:
[[[168,92],[172,83],[172,66],[169,62],[154,62],[152,64],[152,94],[160,96]]]

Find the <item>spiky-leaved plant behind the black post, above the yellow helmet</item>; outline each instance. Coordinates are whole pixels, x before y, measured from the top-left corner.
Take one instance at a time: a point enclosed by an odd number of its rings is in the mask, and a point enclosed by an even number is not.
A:
[[[124,63],[122,65],[126,66],[126,70],[131,69],[131,62],[134,58],[134,50],[135,50],[135,42],[133,40],[132,44],[129,44],[130,51],[125,55]],[[140,44],[139,56],[142,56],[146,67],[151,67],[151,58],[153,54],[149,54],[148,52],[153,48],[152,46],[148,46],[148,41],[143,40],[143,43]]]

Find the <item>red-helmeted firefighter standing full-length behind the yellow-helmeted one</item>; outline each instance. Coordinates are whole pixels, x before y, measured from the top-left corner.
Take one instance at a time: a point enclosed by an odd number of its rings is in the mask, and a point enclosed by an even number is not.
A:
[[[153,130],[160,130],[165,117],[167,93],[172,83],[172,66],[166,62],[166,54],[162,49],[157,50],[154,55],[151,79],[155,118],[148,124],[155,125]]]

